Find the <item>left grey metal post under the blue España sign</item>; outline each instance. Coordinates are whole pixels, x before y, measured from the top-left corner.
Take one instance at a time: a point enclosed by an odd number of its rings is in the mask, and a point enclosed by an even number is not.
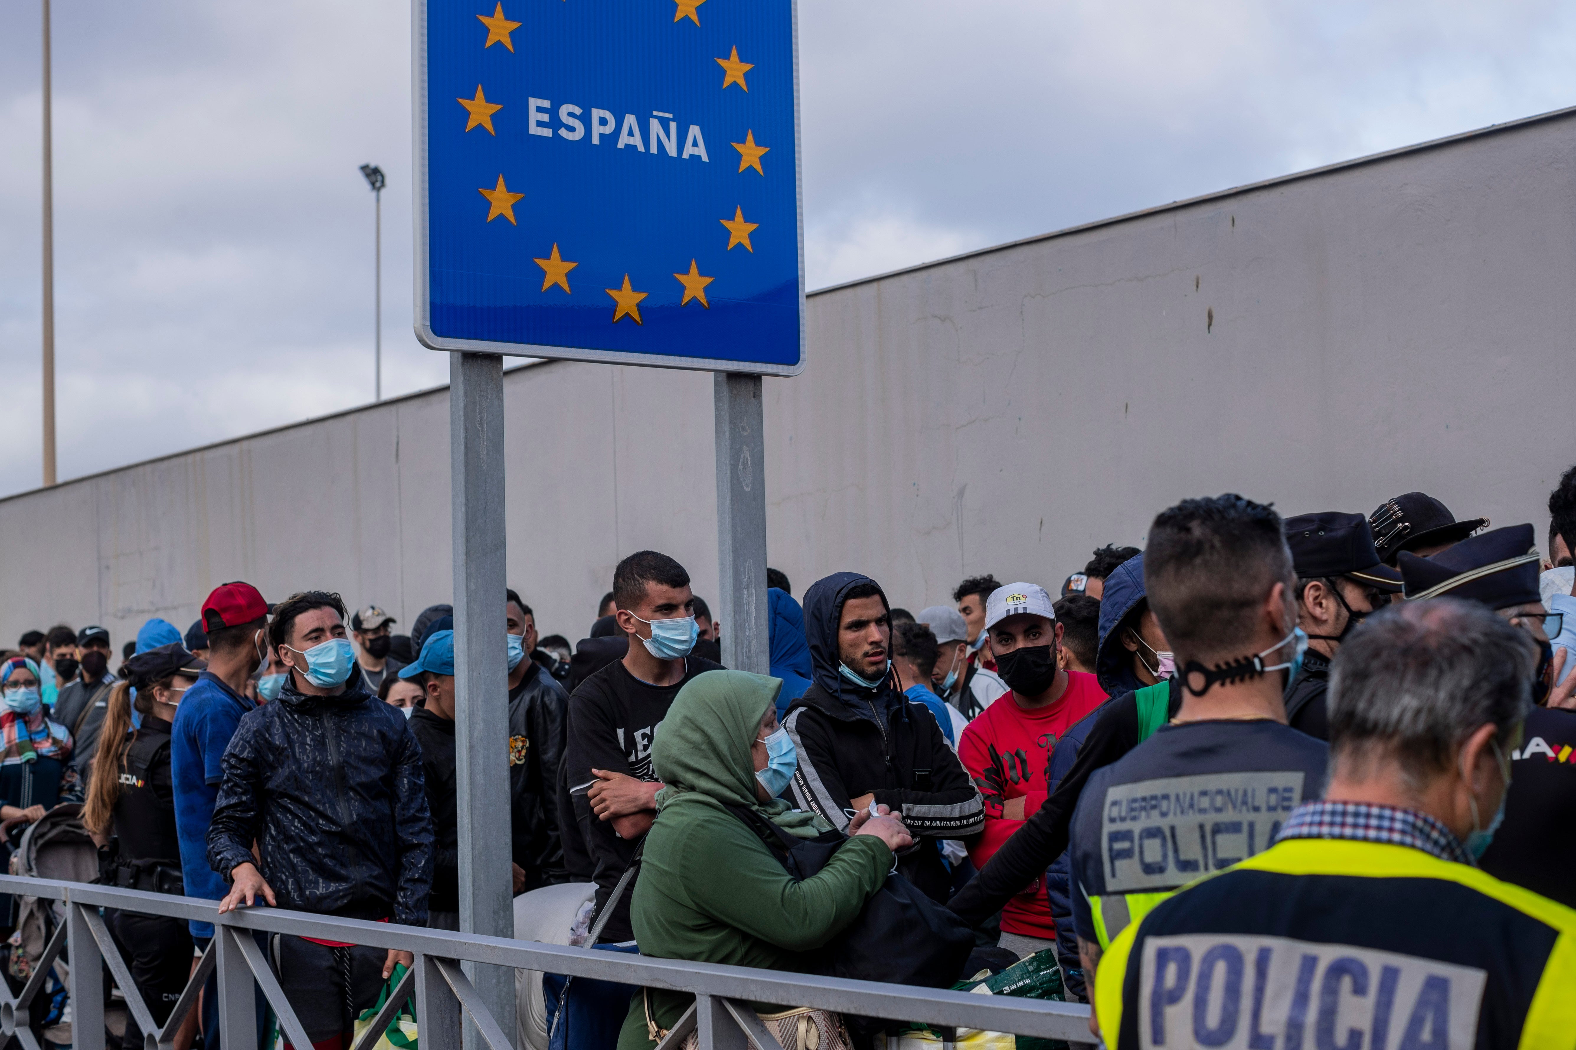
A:
[[[509,669],[504,636],[503,357],[449,354],[454,507],[454,699],[460,930],[514,937],[509,812]],[[764,571],[764,570],[763,570]],[[514,1017],[514,971],[465,963],[493,1017]],[[465,1048],[485,1050],[465,1025]]]

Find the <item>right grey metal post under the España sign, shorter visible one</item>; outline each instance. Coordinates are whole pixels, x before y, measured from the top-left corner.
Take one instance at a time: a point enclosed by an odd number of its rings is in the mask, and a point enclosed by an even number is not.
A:
[[[766,439],[761,378],[714,373],[722,663],[766,674]]]

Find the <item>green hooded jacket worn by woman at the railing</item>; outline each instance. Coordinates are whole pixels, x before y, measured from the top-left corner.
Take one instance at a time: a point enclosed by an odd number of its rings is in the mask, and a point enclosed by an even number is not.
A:
[[[854,836],[818,874],[796,882],[760,836],[723,804],[750,806],[794,834],[816,834],[808,814],[755,793],[755,743],[782,682],[712,671],[673,699],[651,746],[657,819],[635,880],[630,918],[640,954],[804,971],[813,952],[859,918],[886,882],[892,852]],[[692,995],[651,990],[651,1014],[671,1028]],[[782,1007],[771,1007],[782,1009]],[[649,1050],[645,996],[635,993],[618,1050]]]

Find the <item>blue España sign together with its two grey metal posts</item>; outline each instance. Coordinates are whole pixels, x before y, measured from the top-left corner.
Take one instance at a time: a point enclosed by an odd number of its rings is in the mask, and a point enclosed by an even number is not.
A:
[[[796,6],[411,11],[416,337],[459,351],[460,926],[509,935],[498,354],[717,373],[723,655],[764,672],[761,376],[804,368]]]

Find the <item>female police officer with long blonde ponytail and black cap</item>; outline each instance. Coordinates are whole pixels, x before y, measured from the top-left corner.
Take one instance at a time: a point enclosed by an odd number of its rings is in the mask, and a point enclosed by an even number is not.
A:
[[[115,685],[93,757],[82,822],[99,845],[99,882],[183,896],[175,834],[170,729],[181,696],[208,667],[180,642],[137,653]],[[131,690],[137,691],[136,702]],[[132,707],[142,726],[132,732]],[[192,938],[184,919],[109,910],[106,924],[131,970],[137,993],[162,1025],[191,974]],[[143,1033],[128,1014],[121,1045],[140,1047]]]

